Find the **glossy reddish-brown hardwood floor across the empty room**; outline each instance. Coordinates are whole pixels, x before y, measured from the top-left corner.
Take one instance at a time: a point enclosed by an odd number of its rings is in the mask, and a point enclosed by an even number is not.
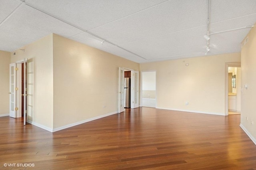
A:
[[[0,117],[0,168],[256,170],[256,145],[239,125],[240,115],[146,107],[54,133]]]

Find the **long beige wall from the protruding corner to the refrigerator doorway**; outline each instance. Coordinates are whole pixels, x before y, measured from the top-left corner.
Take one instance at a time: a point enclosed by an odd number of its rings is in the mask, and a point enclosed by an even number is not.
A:
[[[139,63],[55,34],[53,46],[54,128],[117,113],[118,67]]]

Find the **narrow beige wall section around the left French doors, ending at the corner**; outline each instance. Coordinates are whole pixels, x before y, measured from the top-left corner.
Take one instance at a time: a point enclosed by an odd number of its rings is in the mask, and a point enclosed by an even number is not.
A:
[[[12,52],[11,63],[28,58],[28,122],[50,130],[53,127],[52,34],[20,49]]]

